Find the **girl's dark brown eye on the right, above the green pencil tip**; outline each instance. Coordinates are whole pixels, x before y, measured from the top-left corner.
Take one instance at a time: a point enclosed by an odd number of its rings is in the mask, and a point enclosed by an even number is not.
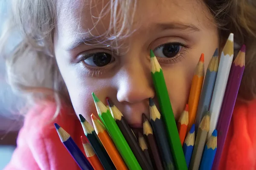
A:
[[[182,47],[183,45],[180,43],[167,43],[155,48],[154,54],[157,57],[173,58],[180,53]]]

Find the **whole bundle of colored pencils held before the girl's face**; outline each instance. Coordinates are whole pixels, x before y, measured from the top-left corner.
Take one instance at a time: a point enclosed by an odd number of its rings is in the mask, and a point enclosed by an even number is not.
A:
[[[81,136],[85,156],[71,136],[55,124],[61,142],[82,170],[218,169],[245,65],[245,46],[234,61],[233,51],[230,34],[220,61],[216,49],[206,75],[201,54],[188,104],[177,125],[163,70],[150,51],[151,75],[160,110],[150,98],[150,114],[142,115],[143,135],[134,134],[111,99],[107,98],[106,106],[92,93],[99,119],[92,114],[92,126],[79,115],[85,134]]]

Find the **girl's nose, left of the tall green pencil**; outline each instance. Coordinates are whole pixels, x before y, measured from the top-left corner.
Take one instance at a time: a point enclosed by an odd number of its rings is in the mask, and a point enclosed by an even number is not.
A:
[[[117,91],[119,102],[134,104],[154,97],[150,63],[141,65],[139,61],[133,62],[123,67],[121,74],[123,78],[119,79]]]

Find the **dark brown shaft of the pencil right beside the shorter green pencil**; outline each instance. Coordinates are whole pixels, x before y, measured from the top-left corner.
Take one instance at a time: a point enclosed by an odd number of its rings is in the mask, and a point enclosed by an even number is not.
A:
[[[145,158],[145,155],[144,155],[143,151],[141,150],[139,143],[137,142],[134,134],[132,133],[131,128],[125,122],[125,119],[123,118],[123,116],[122,116],[121,120],[116,119],[116,124],[119,127],[119,129],[121,130],[123,136],[125,137],[126,142],[130,146],[130,148],[131,148],[132,152],[134,153],[134,156],[136,157],[137,161],[139,162],[141,168],[143,170],[152,170],[153,167],[151,167],[150,164],[148,164],[148,161]]]

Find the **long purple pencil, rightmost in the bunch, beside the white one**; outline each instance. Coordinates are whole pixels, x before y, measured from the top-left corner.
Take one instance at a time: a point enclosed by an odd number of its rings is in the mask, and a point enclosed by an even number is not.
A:
[[[240,87],[241,79],[244,73],[245,65],[245,45],[242,46],[239,54],[237,55],[230,71],[230,77],[227,83],[227,89],[224,95],[220,117],[217,124],[218,130],[218,150],[216,158],[214,159],[213,167],[218,168],[221,154],[224,148],[227,132],[229,129],[231,117],[233,114],[236,97]]]

